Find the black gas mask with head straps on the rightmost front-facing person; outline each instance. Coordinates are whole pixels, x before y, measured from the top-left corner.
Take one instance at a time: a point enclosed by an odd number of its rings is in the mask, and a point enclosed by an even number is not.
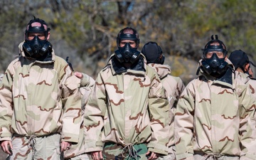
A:
[[[207,53],[213,53],[210,58],[206,58]],[[223,53],[223,58],[218,58],[217,53]],[[225,62],[225,57],[228,51],[225,50],[225,45],[222,41],[218,40],[218,36],[215,35],[215,39],[209,41],[203,49],[202,68],[208,73],[208,75],[223,75],[228,69],[228,63]]]

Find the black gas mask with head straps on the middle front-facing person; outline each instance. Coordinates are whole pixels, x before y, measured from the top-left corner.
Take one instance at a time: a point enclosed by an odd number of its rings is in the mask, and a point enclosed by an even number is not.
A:
[[[132,31],[132,33],[124,33],[124,31]],[[136,47],[132,48],[129,43],[123,47],[120,46],[121,41],[130,40],[136,43]],[[120,63],[134,63],[139,59],[140,52],[137,50],[139,46],[139,36],[133,28],[124,28],[117,35],[118,50],[114,51],[114,55]]]

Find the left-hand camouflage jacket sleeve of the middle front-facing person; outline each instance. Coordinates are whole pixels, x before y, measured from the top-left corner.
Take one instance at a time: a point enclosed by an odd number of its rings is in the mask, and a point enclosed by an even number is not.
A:
[[[85,152],[102,151],[103,118],[106,111],[107,95],[100,73],[85,105]]]

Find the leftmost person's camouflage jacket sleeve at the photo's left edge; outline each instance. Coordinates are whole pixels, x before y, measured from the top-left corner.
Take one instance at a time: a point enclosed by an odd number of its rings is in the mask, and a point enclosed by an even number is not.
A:
[[[0,83],[0,141],[11,140],[11,117],[14,112],[11,92],[12,75],[11,69],[7,68]]]

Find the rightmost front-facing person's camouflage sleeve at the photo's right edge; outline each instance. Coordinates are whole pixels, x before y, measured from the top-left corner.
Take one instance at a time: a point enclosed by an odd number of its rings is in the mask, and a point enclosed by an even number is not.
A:
[[[242,90],[239,97],[240,102],[240,159],[255,159],[256,156],[256,131],[255,131],[255,97],[246,86],[237,87]]]

